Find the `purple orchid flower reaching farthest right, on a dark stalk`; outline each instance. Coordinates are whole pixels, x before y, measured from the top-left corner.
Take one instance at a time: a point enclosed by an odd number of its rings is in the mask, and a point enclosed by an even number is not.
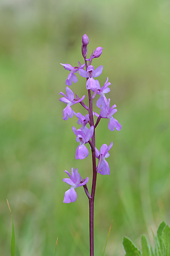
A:
[[[115,128],[117,131],[120,131],[122,128],[122,125],[118,123],[118,121],[113,117],[113,115],[117,112],[117,109],[115,108],[116,105],[114,104],[111,108],[109,107],[111,99],[108,99],[107,105],[101,107],[100,116],[103,118],[108,118],[108,129],[110,131],[114,131]]]

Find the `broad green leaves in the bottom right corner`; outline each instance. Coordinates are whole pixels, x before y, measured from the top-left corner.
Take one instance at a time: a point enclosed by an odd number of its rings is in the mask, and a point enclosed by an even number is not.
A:
[[[145,236],[141,237],[142,253],[135,247],[129,238],[123,238],[123,246],[126,252],[125,256],[142,255],[142,256],[169,256],[170,255],[170,228],[163,221],[154,236],[155,253],[152,246],[148,245]]]

